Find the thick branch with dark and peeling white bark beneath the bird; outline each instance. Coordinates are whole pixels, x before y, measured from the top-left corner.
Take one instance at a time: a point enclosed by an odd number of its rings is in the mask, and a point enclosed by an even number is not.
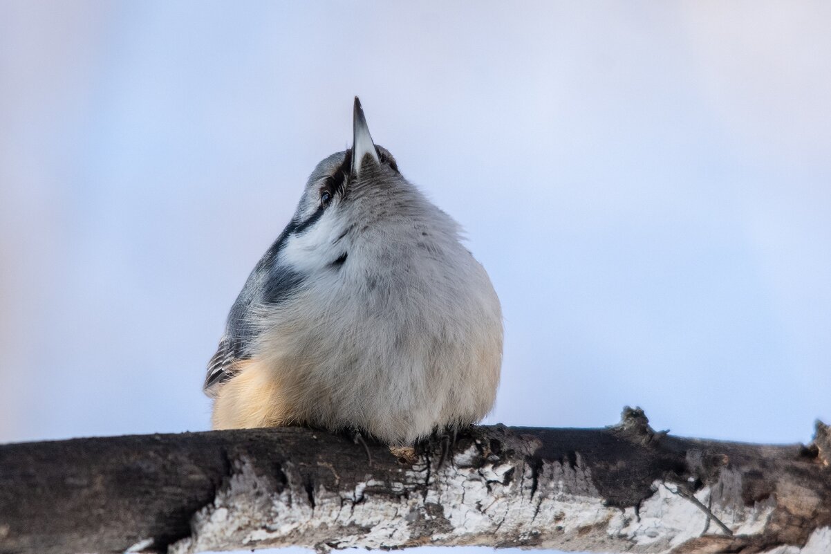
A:
[[[473,428],[416,462],[305,428],[0,446],[0,552],[484,545],[831,552],[831,438],[766,446],[602,429]]]

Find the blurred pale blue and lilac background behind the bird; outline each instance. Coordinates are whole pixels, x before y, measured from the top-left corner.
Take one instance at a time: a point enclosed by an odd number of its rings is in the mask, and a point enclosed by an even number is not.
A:
[[[376,142],[505,318],[489,423],[831,421],[828,2],[0,2],[0,442],[209,428],[317,161]]]

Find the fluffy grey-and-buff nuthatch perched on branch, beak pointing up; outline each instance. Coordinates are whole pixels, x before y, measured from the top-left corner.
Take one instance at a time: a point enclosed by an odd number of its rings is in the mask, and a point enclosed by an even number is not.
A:
[[[212,427],[391,448],[456,433],[494,406],[503,334],[460,225],[376,146],[356,96],[352,148],[317,164],[230,309],[204,381]]]

